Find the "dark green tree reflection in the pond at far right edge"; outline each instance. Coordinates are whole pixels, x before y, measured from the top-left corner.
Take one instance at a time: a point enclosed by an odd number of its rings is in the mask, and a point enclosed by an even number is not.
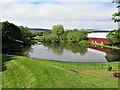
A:
[[[120,50],[113,50],[112,52],[107,52],[105,58],[108,62],[120,61]]]

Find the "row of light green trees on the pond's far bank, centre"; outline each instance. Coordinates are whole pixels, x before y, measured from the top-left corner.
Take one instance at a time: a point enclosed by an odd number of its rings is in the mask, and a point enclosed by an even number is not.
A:
[[[52,33],[45,34],[40,37],[41,42],[46,43],[76,43],[81,44],[81,41],[87,43],[88,31],[86,30],[64,30],[63,25],[54,25],[52,28]]]

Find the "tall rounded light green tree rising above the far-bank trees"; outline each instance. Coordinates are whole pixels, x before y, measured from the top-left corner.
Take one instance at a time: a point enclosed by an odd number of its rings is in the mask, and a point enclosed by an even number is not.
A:
[[[54,25],[52,33],[53,34],[57,34],[58,36],[62,35],[64,33],[64,27],[63,27],[63,25]]]

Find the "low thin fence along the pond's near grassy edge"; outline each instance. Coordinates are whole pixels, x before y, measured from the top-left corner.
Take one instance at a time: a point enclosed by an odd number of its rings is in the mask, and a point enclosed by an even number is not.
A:
[[[117,68],[117,66],[112,66],[109,63],[74,63],[74,62],[59,62],[51,61],[55,66],[60,66],[63,68],[93,68],[93,69],[108,69],[108,67]]]

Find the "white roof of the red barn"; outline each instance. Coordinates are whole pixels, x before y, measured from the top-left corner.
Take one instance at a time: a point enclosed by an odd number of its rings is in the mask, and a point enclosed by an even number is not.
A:
[[[96,33],[89,33],[88,34],[88,38],[106,38],[108,32],[102,32],[102,33],[99,33],[99,32],[96,32]]]

